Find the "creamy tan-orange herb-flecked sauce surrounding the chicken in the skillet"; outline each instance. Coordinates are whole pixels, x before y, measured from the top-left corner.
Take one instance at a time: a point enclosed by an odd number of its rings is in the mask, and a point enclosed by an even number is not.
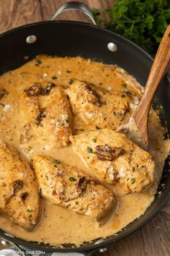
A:
[[[58,58],[50,56],[39,56],[41,61],[32,60],[24,66],[0,77],[0,88],[8,92],[0,100],[0,138],[6,140],[22,153],[27,161],[30,154],[40,152],[45,155],[65,161],[70,165],[76,165],[87,174],[94,174],[81,161],[76,153],[73,153],[71,145],[62,149],[49,149],[40,144],[39,140],[29,140],[26,144],[20,144],[19,138],[22,134],[24,124],[27,123],[22,108],[19,106],[19,98],[24,88],[34,82],[52,81],[59,85],[69,85],[73,78],[92,82],[107,90],[123,93],[126,84],[130,92],[135,95],[135,101],[130,103],[130,113],[136,108],[142,95],[142,89],[138,82],[119,67],[109,67],[91,60],[77,58]],[[38,63],[39,62],[39,63]],[[118,127],[117,127],[118,128]],[[43,202],[42,219],[34,231],[25,231],[15,225],[4,216],[0,216],[0,228],[19,238],[37,242],[50,243],[60,246],[64,243],[82,244],[99,237],[109,236],[120,231],[135,218],[145,213],[146,208],[153,202],[158,183],[161,179],[161,171],[164,159],[169,152],[169,141],[164,140],[163,129],[158,121],[155,111],[151,110],[149,116],[149,137],[151,138],[151,153],[156,162],[156,184],[147,192],[130,193],[123,191],[119,186],[109,186],[117,196],[117,208],[110,213],[102,223],[96,223],[86,216],[73,213],[71,210],[50,205],[46,200]]]

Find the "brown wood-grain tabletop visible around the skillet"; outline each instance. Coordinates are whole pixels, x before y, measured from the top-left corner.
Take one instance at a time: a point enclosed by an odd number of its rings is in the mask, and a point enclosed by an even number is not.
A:
[[[114,0],[82,0],[91,8],[106,9]],[[0,0],[0,33],[31,22],[50,20],[64,0]],[[61,20],[89,21],[80,12],[61,14]],[[103,256],[169,256],[170,202],[146,226],[120,242],[109,246]],[[94,253],[99,255],[98,252]]]

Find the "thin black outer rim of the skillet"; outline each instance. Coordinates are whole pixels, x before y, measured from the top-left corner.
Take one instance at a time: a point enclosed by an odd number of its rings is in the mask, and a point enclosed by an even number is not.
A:
[[[29,23],[27,25],[14,27],[11,30],[6,30],[4,33],[0,34],[0,40],[1,40],[1,38],[4,38],[4,36],[6,36],[10,33],[15,33],[16,31],[22,30],[22,29],[27,28],[27,27],[36,27],[38,25],[55,24],[55,23],[58,23],[58,24],[60,24],[60,23],[67,24],[68,23],[68,24],[73,24],[73,25],[81,25],[83,27],[84,26],[89,27],[89,28],[92,27],[93,29],[101,30],[101,31],[104,31],[105,33],[106,32],[110,33],[112,35],[115,35],[117,38],[120,38],[121,40],[124,40],[124,41],[130,43],[131,45],[135,46],[135,48],[138,48],[141,51],[141,54],[144,54],[146,56],[146,58],[150,59],[150,61],[153,62],[153,57],[150,54],[148,54],[148,52],[145,49],[143,49],[141,46],[138,46],[138,44],[134,43],[132,40],[129,40],[128,38],[125,38],[122,35],[114,33],[114,32],[112,32],[110,30],[107,30],[103,27],[99,27],[97,25],[92,25],[92,24],[89,24],[89,23],[86,23],[86,22],[77,22],[77,21],[70,21],[70,20],[53,20],[53,21],[47,20],[47,21],[41,21],[41,22],[33,22],[33,23]],[[97,244],[89,244],[89,245],[85,244],[85,245],[81,245],[81,247],[61,248],[60,249],[60,248],[55,248],[53,246],[48,247],[47,244],[43,244],[43,245],[42,244],[31,244],[31,243],[34,243],[34,242],[32,242],[32,241],[29,242],[29,241],[26,241],[26,240],[22,240],[22,239],[19,239],[17,237],[6,236],[6,234],[5,234],[6,232],[1,230],[1,229],[0,229],[0,236],[4,239],[9,240],[10,242],[14,242],[14,244],[22,245],[23,247],[25,247],[27,249],[34,249],[34,250],[37,249],[37,250],[45,251],[45,252],[82,252],[82,253],[84,253],[84,252],[93,251],[93,250],[96,250],[96,249],[99,249],[99,248],[102,248],[102,247],[107,247],[107,245],[112,244],[114,242],[117,242],[120,239],[123,239],[127,236],[130,236],[130,234],[135,233],[135,231],[138,231],[141,227],[146,225],[146,223],[151,221],[151,219],[153,217],[155,217],[156,214],[158,214],[158,212],[164,207],[164,205],[166,205],[166,202],[168,202],[169,199],[170,199],[170,187],[169,187],[169,190],[166,192],[163,200],[161,200],[161,203],[158,204],[158,207],[156,208],[156,210],[154,210],[153,213],[150,216],[148,216],[148,218],[146,218],[146,220],[144,220],[142,223],[140,223],[137,228],[134,228],[132,231],[128,231],[126,234],[121,234],[120,233],[118,236],[111,235],[111,237],[105,238],[104,241],[99,243],[99,244],[98,243]],[[155,198],[154,198],[154,200],[155,200]],[[153,200],[153,202],[154,202],[154,200]],[[153,204],[153,202],[151,203],[151,205]],[[131,223],[133,223],[133,222],[131,222]],[[129,223],[128,226],[131,223]]]

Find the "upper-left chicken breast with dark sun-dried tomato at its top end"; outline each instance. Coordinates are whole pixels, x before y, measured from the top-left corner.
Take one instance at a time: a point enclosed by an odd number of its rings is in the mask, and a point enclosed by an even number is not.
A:
[[[35,83],[24,90],[21,103],[27,116],[24,127],[32,127],[44,145],[51,148],[68,144],[72,114],[67,95],[61,87],[50,82]],[[23,131],[22,143],[26,132]]]

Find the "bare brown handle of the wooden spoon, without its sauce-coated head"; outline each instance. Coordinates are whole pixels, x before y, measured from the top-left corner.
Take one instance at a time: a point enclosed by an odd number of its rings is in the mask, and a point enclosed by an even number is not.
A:
[[[156,93],[159,82],[166,72],[169,59],[170,25],[167,27],[166,32],[164,33],[164,37],[162,38],[158,47],[158,51],[156,53],[150,74],[148,76],[148,80],[146,82],[145,93],[140,100],[138,108],[136,108],[135,113],[133,114],[137,127],[140,127],[140,132],[142,132],[143,135],[147,132],[148,112],[151,107],[151,101],[153,100],[153,96]]]

